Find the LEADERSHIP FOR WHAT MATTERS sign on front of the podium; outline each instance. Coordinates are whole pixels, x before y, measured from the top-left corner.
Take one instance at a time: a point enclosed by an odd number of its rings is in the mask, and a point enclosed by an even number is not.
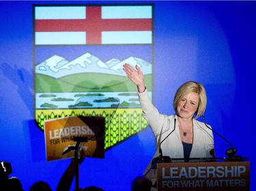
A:
[[[158,191],[250,190],[250,162],[158,163]]]

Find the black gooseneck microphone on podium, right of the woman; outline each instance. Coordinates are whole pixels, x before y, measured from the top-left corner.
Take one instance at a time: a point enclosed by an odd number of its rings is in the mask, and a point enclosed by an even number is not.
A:
[[[210,128],[210,126],[208,126],[205,122],[205,116],[202,115],[202,117],[203,117],[203,123],[205,124],[205,126],[207,128],[209,128],[213,133],[216,133],[219,137],[221,137],[222,139],[227,141],[227,143],[229,143],[230,148],[227,149],[226,152],[225,152],[225,154],[227,155],[227,158],[225,159],[225,161],[242,161],[241,156],[235,156],[236,155],[236,148],[234,148],[232,146],[231,142],[229,140],[227,140],[225,137],[223,137],[221,134],[219,134],[218,132],[216,132],[212,128]]]

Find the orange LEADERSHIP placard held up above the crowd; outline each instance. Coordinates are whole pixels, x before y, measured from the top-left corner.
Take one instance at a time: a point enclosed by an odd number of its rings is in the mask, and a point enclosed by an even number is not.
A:
[[[73,137],[88,137],[81,143],[81,155],[104,158],[105,120],[100,116],[73,116],[44,121],[46,160],[74,157],[74,152],[63,152],[75,146]]]

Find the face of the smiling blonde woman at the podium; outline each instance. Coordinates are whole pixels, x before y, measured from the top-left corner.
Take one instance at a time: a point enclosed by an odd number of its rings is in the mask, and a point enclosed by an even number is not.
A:
[[[193,118],[199,105],[199,94],[190,92],[177,104],[177,116],[180,118]]]

